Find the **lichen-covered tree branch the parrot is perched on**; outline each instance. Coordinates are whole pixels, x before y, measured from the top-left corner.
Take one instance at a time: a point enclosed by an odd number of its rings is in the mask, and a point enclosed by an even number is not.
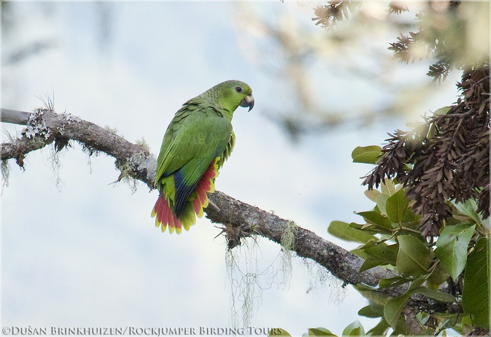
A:
[[[55,143],[55,148],[59,150],[68,143],[69,139],[73,139],[91,151],[101,151],[116,158],[117,167],[129,164],[129,174],[133,178],[143,181],[151,189],[154,188],[157,159],[141,146],[128,142],[110,130],[70,114],[57,114],[42,109],[33,113],[1,109],[1,121],[27,125],[20,138],[14,139],[11,143],[1,144],[2,160],[15,158],[23,167],[22,158],[29,152],[51,143]],[[294,234],[294,244],[286,248],[295,251],[300,257],[312,259],[324,266],[334,276],[344,281],[345,285],[377,286],[379,280],[396,276],[392,271],[382,267],[360,273],[358,270],[363,259],[291,221],[250,206],[222,192],[209,193],[209,199],[217,207],[206,208],[206,217],[225,226],[222,233],[226,236],[231,249],[240,245],[241,239],[255,235],[281,244],[285,231],[291,231]],[[404,294],[406,290],[407,285],[400,285],[377,289],[377,292],[397,297]],[[458,304],[440,303],[418,294],[414,294],[408,304],[412,308],[423,311],[461,311]]]

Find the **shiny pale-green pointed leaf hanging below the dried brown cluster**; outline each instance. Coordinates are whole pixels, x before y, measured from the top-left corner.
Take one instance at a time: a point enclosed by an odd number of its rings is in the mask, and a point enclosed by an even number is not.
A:
[[[467,263],[467,247],[476,225],[446,226],[436,240],[435,255],[452,279],[457,279]]]

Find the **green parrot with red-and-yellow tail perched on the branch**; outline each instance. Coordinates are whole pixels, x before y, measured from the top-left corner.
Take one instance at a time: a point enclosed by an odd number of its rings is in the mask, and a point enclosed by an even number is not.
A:
[[[165,131],[157,159],[155,187],[159,199],[152,210],[155,226],[181,233],[203,216],[207,192],[215,190],[218,169],[235,143],[232,116],[237,107],[254,106],[244,82],[225,81],[192,98],[176,112]]]

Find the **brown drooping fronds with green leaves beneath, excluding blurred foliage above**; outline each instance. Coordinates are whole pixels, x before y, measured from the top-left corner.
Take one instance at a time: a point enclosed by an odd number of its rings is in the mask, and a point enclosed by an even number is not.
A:
[[[407,334],[412,326],[414,333],[414,322],[426,335],[447,328],[463,334],[489,330],[489,78],[488,64],[464,73],[458,84],[463,97],[414,130],[390,135],[363,182],[381,187],[365,194],[382,217],[374,221],[373,211],[357,213],[367,221],[357,225],[361,233],[381,237],[370,245],[358,240],[364,243],[354,251],[365,258],[361,269],[392,265],[401,276],[381,280],[379,287],[409,283],[406,294],[383,303],[383,323],[394,332]],[[373,163],[374,149],[356,148],[354,161]],[[395,263],[374,255],[377,245],[385,251],[396,245]],[[411,323],[403,310],[412,293],[458,303],[464,315],[420,312]]]

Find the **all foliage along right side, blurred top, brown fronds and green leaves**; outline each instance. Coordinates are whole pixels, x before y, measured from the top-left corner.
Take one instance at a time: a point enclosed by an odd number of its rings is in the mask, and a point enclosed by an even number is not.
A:
[[[489,335],[489,52],[473,50],[468,36],[472,15],[465,14],[489,10],[478,6],[430,1],[416,15],[418,31],[401,33],[390,44],[389,50],[406,63],[433,57],[427,75],[435,80],[445,79],[452,69],[463,70],[457,84],[462,96],[425,116],[413,130],[389,134],[383,148],[357,147],[352,153],[354,162],[376,165],[363,181],[375,205],[356,212],[360,223],[333,221],[327,231],[360,243],[352,251],[365,259],[360,272],[386,266],[399,275],[377,286],[355,286],[369,300],[358,314],[380,321],[366,332],[355,321],[343,336],[444,335],[446,329]],[[328,1],[316,8],[313,20],[332,28],[356,7],[354,1]],[[388,7],[388,15],[408,10],[404,2]],[[404,286],[405,293],[390,298],[377,291],[396,286]],[[454,310],[419,311],[408,306],[415,294],[453,304]],[[316,328],[304,334],[313,335],[331,333]]]

